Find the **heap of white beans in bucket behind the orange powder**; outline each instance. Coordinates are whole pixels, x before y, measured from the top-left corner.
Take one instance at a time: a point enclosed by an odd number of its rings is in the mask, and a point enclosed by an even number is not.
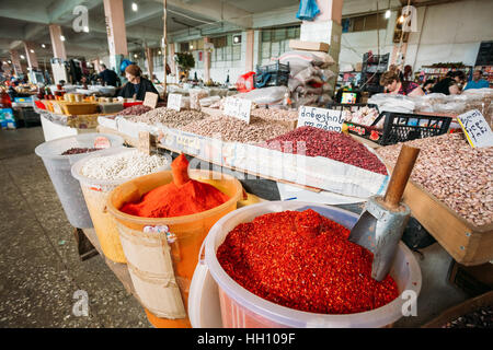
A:
[[[162,155],[147,155],[131,150],[92,158],[84,163],[80,173],[89,178],[126,179],[154,173],[168,164],[170,161]]]

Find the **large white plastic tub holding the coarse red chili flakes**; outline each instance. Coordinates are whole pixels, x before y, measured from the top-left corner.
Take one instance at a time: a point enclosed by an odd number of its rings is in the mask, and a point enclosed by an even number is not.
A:
[[[210,230],[205,240],[205,264],[218,284],[222,325],[226,328],[353,328],[387,327],[403,316],[404,291],[413,291],[417,298],[421,290],[421,270],[411,250],[401,242],[390,270],[400,295],[389,304],[364,313],[347,315],[325,315],[301,312],[277,305],[264,300],[238,284],[220,266],[216,258],[217,248],[238,224],[250,222],[254,218],[285,210],[305,210],[311,208],[347,229],[352,229],[358,215],[352,212],[322,205],[307,202],[271,201],[241,208],[225,215]]]

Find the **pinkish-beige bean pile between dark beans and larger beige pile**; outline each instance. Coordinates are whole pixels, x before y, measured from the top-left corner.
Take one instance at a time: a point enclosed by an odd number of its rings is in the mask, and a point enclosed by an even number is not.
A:
[[[176,112],[174,109],[161,107],[128,119],[135,122],[145,122],[149,125],[162,124],[169,128],[177,128],[207,117],[207,114],[197,110],[185,109]]]

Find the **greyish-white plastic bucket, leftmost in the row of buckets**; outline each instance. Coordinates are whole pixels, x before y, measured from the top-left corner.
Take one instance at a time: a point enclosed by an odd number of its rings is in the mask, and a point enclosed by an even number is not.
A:
[[[71,155],[60,154],[71,148],[93,148],[94,140],[99,137],[107,138],[111,148],[123,147],[124,139],[119,136],[94,132],[47,141],[34,150],[45,164],[68,221],[72,226],[79,229],[91,229],[93,225],[79,180],[71,174],[71,166],[77,161],[102,151]]]

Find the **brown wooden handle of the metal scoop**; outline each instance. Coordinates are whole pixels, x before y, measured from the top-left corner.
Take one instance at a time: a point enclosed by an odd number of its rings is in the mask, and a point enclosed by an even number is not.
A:
[[[408,179],[413,171],[420,149],[403,144],[399,153],[398,161],[390,177],[389,187],[383,198],[385,203],[390,208],[399,207],[402,194],[404,192]]]

